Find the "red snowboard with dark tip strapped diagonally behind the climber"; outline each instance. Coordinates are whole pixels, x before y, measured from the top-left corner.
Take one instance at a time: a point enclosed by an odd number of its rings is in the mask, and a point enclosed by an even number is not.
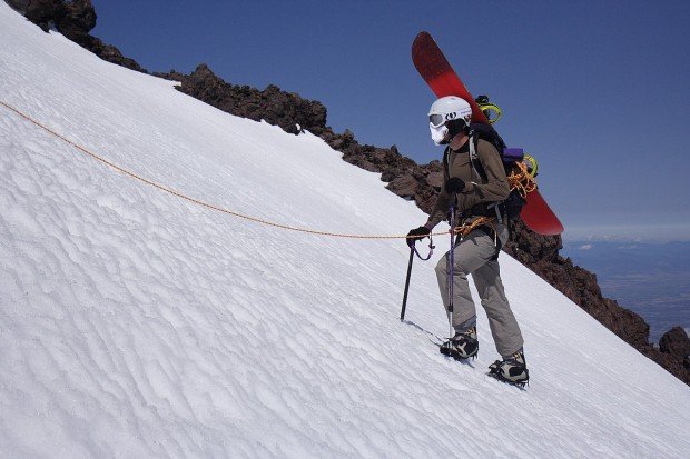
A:
[[[427,32],[421,32],[412,43],[412,61],[436,97],[459,96],[472,107],[472,121],[489,123],[465,84],[457,77],[441,49]],[[522,221],[540,235],[560,235],[563,224],[553,213],[539,190],[528,194],[528,202],[520,212]]]

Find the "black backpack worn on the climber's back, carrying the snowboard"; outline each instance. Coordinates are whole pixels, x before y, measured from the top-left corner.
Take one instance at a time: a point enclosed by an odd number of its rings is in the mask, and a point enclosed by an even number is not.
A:
[[[499,136],[496,130],[490,124],[484,124],[482,122],[470,123],[470,137],[472,138],[471,147],[474,147],[470,148],[472,169],[474,169],[475,173],[480,176],[482,180],[486,180],[486,172],[476,152],[479,139],[487,141],[499,151],[501,161],[503,162],[503,169],[505,170],[505,177],[519,170],[518,163],[522,162],[524,159],[523,150],[521,148],[507,148],[503,139],[501,139],[501,136]],[[509,220],[515,220],[520,217],[520,212],[526,200],[522,197],[520,191],[518,189],[512,189],[509,197],[500,203],[500,209]]]

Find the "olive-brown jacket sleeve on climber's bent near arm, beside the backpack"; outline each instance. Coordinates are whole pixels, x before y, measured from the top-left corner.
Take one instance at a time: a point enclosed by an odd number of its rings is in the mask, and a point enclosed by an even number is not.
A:
[[[503,201],[511,192],[503,161],[494,146],[480,140],[477,156],[486,174],[486,183],[473,181],[466,186],[465,191],[462,192],[462,204],[465,209],[482,202]]]

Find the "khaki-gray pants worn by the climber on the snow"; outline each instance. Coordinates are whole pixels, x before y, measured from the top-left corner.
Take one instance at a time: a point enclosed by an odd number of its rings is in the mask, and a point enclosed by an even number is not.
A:
[[[499,224],[496,230],[501,241],[505,242],[507,228]],[[499,261],[492,260],[495,253],[496,247],[493,238],[481,230],[472,231],[455,245],[452,325],[456,331],[463,331],[476,322],[476,309],[467,283],[467,275],[472,275],[482,306],[489,317],[489,326],[496,343],[496,350],[502,357],[507,358],[522,349],[523,340],[515,316],[505,298]],[[446,312],[448,309],[447,265],[448,253],[446,252],[436,265],[438,288]]]

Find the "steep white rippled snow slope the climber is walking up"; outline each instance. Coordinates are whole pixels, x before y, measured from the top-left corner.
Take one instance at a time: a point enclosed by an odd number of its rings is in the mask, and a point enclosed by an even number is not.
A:
[[[365,235],[424,221],[321,139],[100,61],[4,2],[0,100],[238,212]],[[442,357],[440,252],[415,262],[401,323],[402,240],[215,212],[0,107],[0,457],[687,457],[689,388],[505,255],[531,386],[485,376],[483,312],[479,359]]]

